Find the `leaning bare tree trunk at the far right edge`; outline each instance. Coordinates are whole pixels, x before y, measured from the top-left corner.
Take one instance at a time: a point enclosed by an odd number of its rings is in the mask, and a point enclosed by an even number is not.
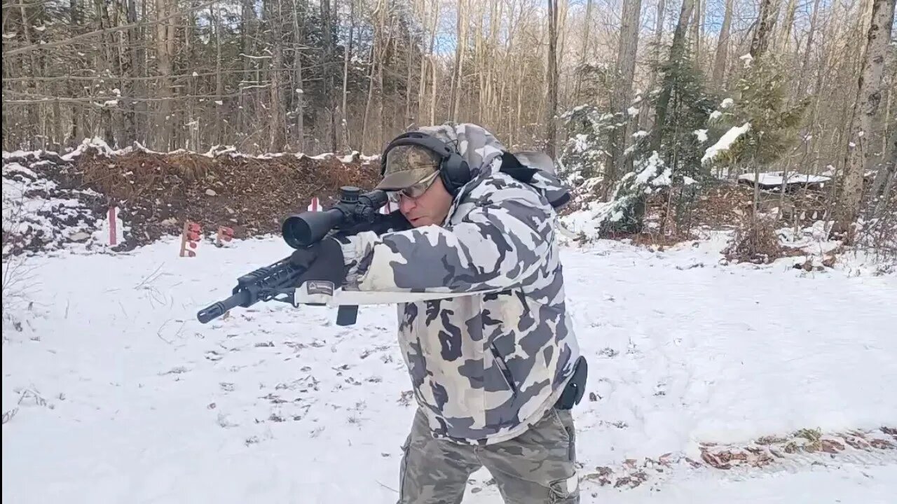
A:
[[[837,227],[847,233],[847,241],[853,237],[850,225],[859,213],[862,200],[863,178],[869,160],[869,137],[873,131],[875,116],[882,100],[882,74],[884,56],[891,42],[895,0],[874,0],[871,22],[867,32],[866,51],[857,82],[857,95],[851,121],[851,143],[844,163],[844,187],[837,215]]]

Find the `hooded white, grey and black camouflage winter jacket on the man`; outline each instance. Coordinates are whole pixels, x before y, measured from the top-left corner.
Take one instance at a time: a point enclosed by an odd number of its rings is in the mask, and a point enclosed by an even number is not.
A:
[[[442,226],[345,242],[344,289],[446,295],[398,304],[414,395],[434,436],[491,444],[538,421],[579,357],[549,203],[566,191],[552,174],[499,172],[501,144],[479,126],[434,131],[457,140],[475,178]]]

